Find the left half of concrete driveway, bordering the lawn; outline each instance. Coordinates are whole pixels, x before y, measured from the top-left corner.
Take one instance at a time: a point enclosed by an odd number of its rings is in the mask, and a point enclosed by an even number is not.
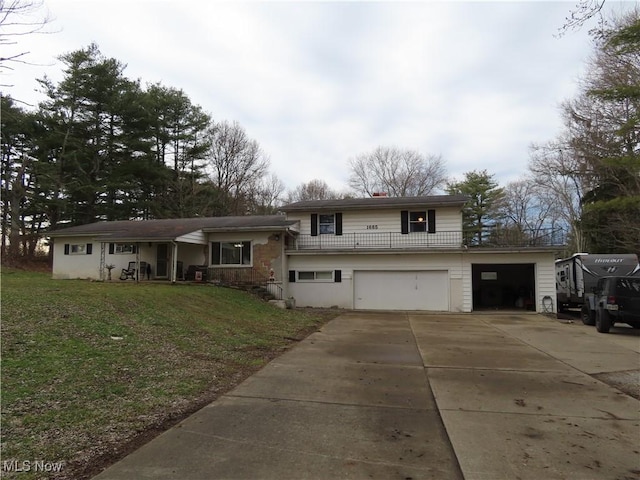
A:
[[[463,477],[409,317],[349,313],[96,478]]]

